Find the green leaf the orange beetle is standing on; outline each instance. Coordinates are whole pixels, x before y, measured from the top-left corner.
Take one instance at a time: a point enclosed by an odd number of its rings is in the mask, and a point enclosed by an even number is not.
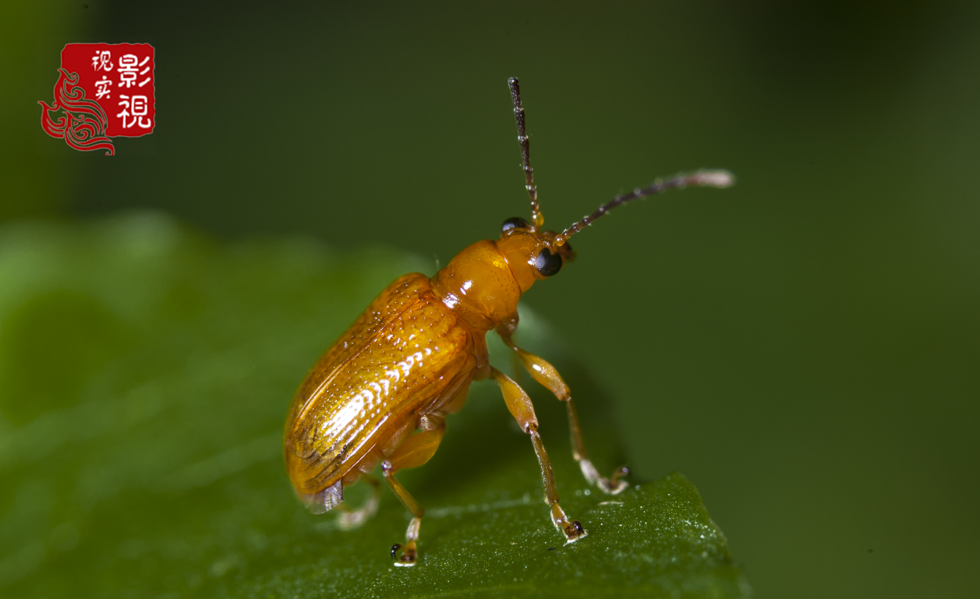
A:
[[[749,596],[692,484],[590,489],[563,406],[519,374],[586,537],[563,544],[530,440],[486,383],[436,456],[400,475],[428,507],[415,568],[389,558],[408,519],[386,489],[358,530],[300,505],[281,457],[292,392],[384,285],[432,266],[306,239],[221,246],[152,214],[0,230],[0,593]],[[565,373],[591,457],[611,472],[611,403],[540,318],[521,315],[519,342]]]

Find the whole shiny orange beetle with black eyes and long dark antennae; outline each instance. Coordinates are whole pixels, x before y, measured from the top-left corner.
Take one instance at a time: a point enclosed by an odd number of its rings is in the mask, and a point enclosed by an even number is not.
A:
[[[618,196],[562,233],[545,231],[530,166],[520,88],[516,78],[508,83],[531,200],[531,222],[523,218],[505,220],[500,239],[476,242],[431,278],[412,273],[396,279],[314,364],[286,418],[286,469],[296,494],[312,512],[320,514],[336,507],[343,501],[344,486],[358,479],[373,485],[374,493],[363,507],[341,514],[342,528],[360,525],[376,510],[378,484],[368,473],[381,464],[384,480],[414,517],[402,555],[397,555],[401,545],[391,549],[397,566],[416,563],[424,510],[395,473],[421,466],[432,457],[446,431],[446,415],[463,407],[474,380],[496,381],[511,414],[530,436],[541,464],[545,502],[566,542],[585,536],[578,521],[569,520],[559,505],[534,406],[510,377],[490,365],[485,336],[496,330],[534,380],[564,401],[573,456],[586,481],[607,493],[618,493],[626,487],[626,482],[619,480],[626,471],[619,469],[607,479],[589,461],[575,405],[561,375],[547,361],[512,341],[517,300],[535,281],[557,274],[565,262],[574,259],[568,238],[611,208],[674,187],[727,187],[732,183],[724,170],[678,175]]]

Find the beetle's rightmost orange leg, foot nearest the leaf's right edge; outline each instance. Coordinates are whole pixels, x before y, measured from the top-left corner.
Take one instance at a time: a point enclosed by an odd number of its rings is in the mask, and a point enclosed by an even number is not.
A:
[[[629,484],[625,481],[620,481],[619,478],[629,474],[629,471],[625,467],[619,468],[609,479],[599,474],[599,471],[593,466],[592,461],[589,460],[589,454],[585,451],[585,441],[582,439],[582,429],[578,424],[578,412],[575,410],[575,402],[571,399],[571,392],[568,390],[568,386],[564,384],[562,375],[544,358],[536,356],[529,351],[524,351],[515,345],[512,336],[516,328],[517,314],[514,314],[497,326],[497,334],[500,335],[500,338],[506,346],[514,350],[520,363],[523,364],[524,369],[527,370],[531,377],[548,388],[561,401],[564,401],[564,405],[568,410],[568,428],[571,430],[571,455],[582,469],[582,475],[585,477],[585,480],[589,484],[595,484],[612,495],[622,491]]]

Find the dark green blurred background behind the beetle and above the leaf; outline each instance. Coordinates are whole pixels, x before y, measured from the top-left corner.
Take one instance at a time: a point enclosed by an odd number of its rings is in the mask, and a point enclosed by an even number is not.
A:
[[[156,47],[153,135],[43,133],[70,41]],[[757,596],[975,592],[975,3],[9,3],[0,55],[5,219],[150,207],[445,263],[527,213],[511,75],[556,228],[732,170],[613,212],[527,304]]]

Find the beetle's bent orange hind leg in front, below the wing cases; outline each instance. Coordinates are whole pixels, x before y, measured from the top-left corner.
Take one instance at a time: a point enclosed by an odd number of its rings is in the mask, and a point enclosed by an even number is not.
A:
[[[410,438],[405,439],[398,449],[395,449],[388,456],[388,459],[381,462],[381,472],[384,473],[384,480],[388,482],[391,490],[401,499],[405,508],[412,513],[412,522],[409,523],[408,530],[405,531],[405,551],[401,557],[397,557],[397,552],[402,548],[400,543],[396,543],[391,548],[391,557],[396,559],[395,566],[415,566],[417,557],[416,541],[418,540],[418,528],[421,526],[422,516],[425,510],[418,505],[415,497],[398,482],[395,473],[403,468],[416,468],[429,461],[435,450],[439,447],[442,436],[446,433],[446,421],[442,416],[427,415],[423,417],[423,427],[420,431]]]

